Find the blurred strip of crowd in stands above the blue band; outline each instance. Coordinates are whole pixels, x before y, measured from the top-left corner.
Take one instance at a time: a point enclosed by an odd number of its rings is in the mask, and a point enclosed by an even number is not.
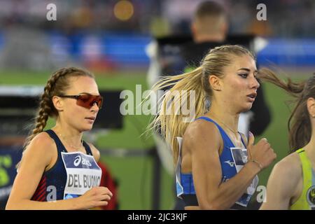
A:
[[[202,0],[0,0],[0,29],[23,25],[73,31],[132,31],[153,36],[189,32],[190,16]],[[46,19],[55,3],[57,22]],[[230,14],[230,34],[314,37],[314,0],[221,0]],[[258,3],[267,21],[258,21]]]

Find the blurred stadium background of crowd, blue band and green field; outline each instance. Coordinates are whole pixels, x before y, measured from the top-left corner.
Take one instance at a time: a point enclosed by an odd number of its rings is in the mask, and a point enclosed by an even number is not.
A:
[[[315,1],[222,2],[230,13],[229,34],[267,39],[267,46],[257,55],[260,66],[273,66],[295,80],[315,71]],[[49,3],[57,6],[57,21],[46,19]],[[100,90],[135,91],[141,84],[144,91],[149,64],[146,45],[154,37],[189,34],[197,3],[200,1],[0,0],[0,87],[45,85],[52,71],[74,65],[93,71]],[[266,4],[267,21],[256,20],[258,3]],[[290,97],[272,85],[264,88],[272,123],[260,137],[269,140],[281,160],[288,153],[290,106],[286,102]],[[106,99],[104,110],[109,110]],[[140,137],[149,120],[144,115],[124,116],[122,128],[107,129],[94,139],[101,153],[105,152],[102,161],[118,180],[119,209],[153,208],[153,195],[157,194],[153,192],[154,157],[106,154],[106,148],[150,151],[153,139]],[[50,121],[48,127],[52,124]],[[0,197],[5,197],[13,181],[6,169],[14,165],[6,160],[7,146],[1,147]],[[173,176],[160,168],[158,209],[172,209]],[[260,174],[260,185],[266,184],[271,169]]]

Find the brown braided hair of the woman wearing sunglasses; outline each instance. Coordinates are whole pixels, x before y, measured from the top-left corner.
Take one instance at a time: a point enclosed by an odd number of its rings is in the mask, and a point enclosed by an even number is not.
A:
[[[94,75],[89,71],[78,69],[76,67],[66,67],[58,69],[52,73],[44,87],[43,94],[41,95],[41,102],[39,103],[37,113],[38,115],[35,117],[36,121],[34,123],[34,129],[31,130],[29,136],[27,137],[23,146],[23,151],[25,151],[31,140],[34,139],[37,134],[43,132],[48,117],[57,118],[58,111],[52,103],[52,97],[64,94],[64,92],[69,88],[69,85],[71,85],[71,83],[69,83],[69,78],[78,76],[88,76],[94,78]],[[19,167],[19,165],[20,162],[17,167]]]

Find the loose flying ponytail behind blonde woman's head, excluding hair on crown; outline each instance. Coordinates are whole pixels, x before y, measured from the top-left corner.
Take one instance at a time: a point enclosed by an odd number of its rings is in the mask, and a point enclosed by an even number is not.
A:
[[[202,72],[202,67],[199,67],[189,73],[163,78],[153,86],[153,91],[157,91],[174,85],[163,94],[158,116],[149,126],[157,132],[160,130],[167,143],[171,145],[174,162],[179,155],[176,137],[182,137],[189,122],[206,112],[206,92],[201,88]],[[184,106],[193,111],[193,114],[183,114]]]

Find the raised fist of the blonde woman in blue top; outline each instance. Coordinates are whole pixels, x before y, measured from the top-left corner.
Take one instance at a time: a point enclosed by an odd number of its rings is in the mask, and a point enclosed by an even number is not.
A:
[[[263,138],[258,141],[258,144],[253,145],[254,136],[249,132],[249,139],[247,145],[248,162],[254,162],[260,171],[268,167],[272,161],[276,159],[276,153],[268,143],[267,139]]]

